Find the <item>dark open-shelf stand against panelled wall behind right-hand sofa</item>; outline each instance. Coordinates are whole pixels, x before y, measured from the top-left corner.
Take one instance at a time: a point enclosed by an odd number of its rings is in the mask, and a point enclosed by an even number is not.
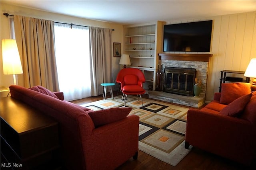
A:
[[[233,76],[227,76],[227,73],[230,74],[242,74],[241,77],[233,77]],[[233,71],[233,70],[222,70],[220,71],[220,87],[219,92],[221,92],[221,84],[227,82],[250,82],[250,77],[246,77],[246,79],[243,78],[244,71]]]

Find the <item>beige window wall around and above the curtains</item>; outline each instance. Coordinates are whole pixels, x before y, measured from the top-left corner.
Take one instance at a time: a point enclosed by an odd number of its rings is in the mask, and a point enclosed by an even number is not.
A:
[[[13,76],[12,75],[3,75],[3,69],[2,69],[2,39],[9,39],[9,25],[8,25],[8,19],[6,16],[3,15],[3,13],[9,13],[12,15],[20,15],[20,16],[29,16],[33,18],[40,18],[45,20],[53,20],[56,22],[64,22],[64,23],[74,23],[77,25],[86,25],[86,26],[95,26],[95,27],[104,27],[104,28],[111,28],[115,29],[115,31],[112,32],[112,41],[121,43],[122,42],[122,33],[123,33],[123,27],[120,24],[116,23],[108,23],[108,22],[102,22],[102,21],[95,21],[95,20],[88,20],[84,18],[76,18],[72,16],[65,16],[61,14],[54,14],[50,12],[44,12],[39,10],[32,10],[28,8],[22,8],[18,6],[12,6],[9,4],[4,4],[2,1],[0,2],[1,6],[1,14],[0,14],[0,39],[1,39],[1,57],[0,57],[0,85],[1,86],[10,86],[13,84]],[[121,46],[121,53],[122,53],[122,46]],[[118,71],[120,70],[119,65],[120,57],[112,57],[112,65],[113,65],[113,82],[115,82],[116,75],[118,74]],[[8,93],[2,92],[1,97],[6,96]]]

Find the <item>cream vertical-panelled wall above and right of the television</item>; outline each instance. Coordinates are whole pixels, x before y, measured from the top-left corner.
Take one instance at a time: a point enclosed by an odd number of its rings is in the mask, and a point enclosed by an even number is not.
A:
[[[245,71],[250,59],[256,58],[256,12],[168,21],[166,24],[200,20],[213,20],[210,52],[213,57],[210,59],[206,90],[206,102],[209,102],[213,100],[214,93],[219,92],[221,70]]]

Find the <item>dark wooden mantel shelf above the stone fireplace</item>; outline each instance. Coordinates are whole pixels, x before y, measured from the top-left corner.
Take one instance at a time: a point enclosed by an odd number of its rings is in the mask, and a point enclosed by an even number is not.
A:
[[[159,60],[177,60],[177,61],[205,61],[209,62],[212,54],[158,54]]]

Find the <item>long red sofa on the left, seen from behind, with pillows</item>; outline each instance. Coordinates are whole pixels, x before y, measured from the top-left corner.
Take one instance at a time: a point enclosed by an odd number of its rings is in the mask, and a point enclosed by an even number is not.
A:
[[[137,158],[139,117],[127,116],[130,108],[92,111],[41,86],[12,85],[10,93],[58,121],[62,168],[113,170],[132,156]]]

